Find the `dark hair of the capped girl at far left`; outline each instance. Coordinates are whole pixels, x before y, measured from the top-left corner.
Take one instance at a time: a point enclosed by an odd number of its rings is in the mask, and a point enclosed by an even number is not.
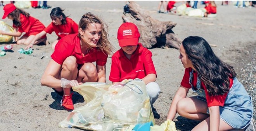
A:
[[[20,14],[25,15],[25,17],[29,17],[29,13],[25,12],[24,10],[21,10],[19,8],[16,8],[13,12],[11,12],[9,15],[13,17],[13,24],[17,27],[21,26],[21,18]]]

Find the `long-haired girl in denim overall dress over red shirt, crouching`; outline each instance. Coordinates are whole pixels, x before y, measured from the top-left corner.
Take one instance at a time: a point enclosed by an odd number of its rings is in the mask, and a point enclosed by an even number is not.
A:
[[[202,121],[193,131],[228,131],[253,123],[252,97],[236,79],[232,66],[220,60],[202,37],[190,36],[180,46],[185,74],[167,119],[176,113]],[[197,96],[186,97],[192,88]]]

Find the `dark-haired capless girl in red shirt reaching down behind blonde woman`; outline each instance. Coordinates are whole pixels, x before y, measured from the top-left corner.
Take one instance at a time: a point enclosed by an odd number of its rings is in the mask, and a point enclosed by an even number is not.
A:
[[[47,33],[52,34],[52,32],[55,32],[55,34],[58,36],[58,39],[52,43],[52,49],[55,48],[57,42],[64,36],[78,33],[78,24],[76,24],[76,22],[74,22],[71,18],[66,17],[63,11],[64,10],[61,10],[60,7],[53,8],[50,13],[52,22],[42,32],[37,34],[25,49],[33,47],[33,45],[37,44],[35,43],[36,40],[40,39]]]

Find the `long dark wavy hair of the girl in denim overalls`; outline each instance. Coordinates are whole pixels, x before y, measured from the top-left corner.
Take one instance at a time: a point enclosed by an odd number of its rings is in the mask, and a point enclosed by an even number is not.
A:
[[[202,37],[187,37],[183,40],[182,45],[195,67],[199,79],[204,82],[209,95],[217,96],[228,92],[229,78],[236,76],[233,67],[219,59]]]

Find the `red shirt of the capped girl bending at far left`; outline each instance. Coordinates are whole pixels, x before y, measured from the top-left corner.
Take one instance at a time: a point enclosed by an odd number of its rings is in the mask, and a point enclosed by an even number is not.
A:
[[[45,29],[45,26],[34,17],[26,17],[22,13],[20,14],[21,26],[17,27],[16,25],[12,25],[14,28],[18,28],[19,32],[26,32],[23,36],[36,35]],[[43,36],[42,38],[44,38]]]

